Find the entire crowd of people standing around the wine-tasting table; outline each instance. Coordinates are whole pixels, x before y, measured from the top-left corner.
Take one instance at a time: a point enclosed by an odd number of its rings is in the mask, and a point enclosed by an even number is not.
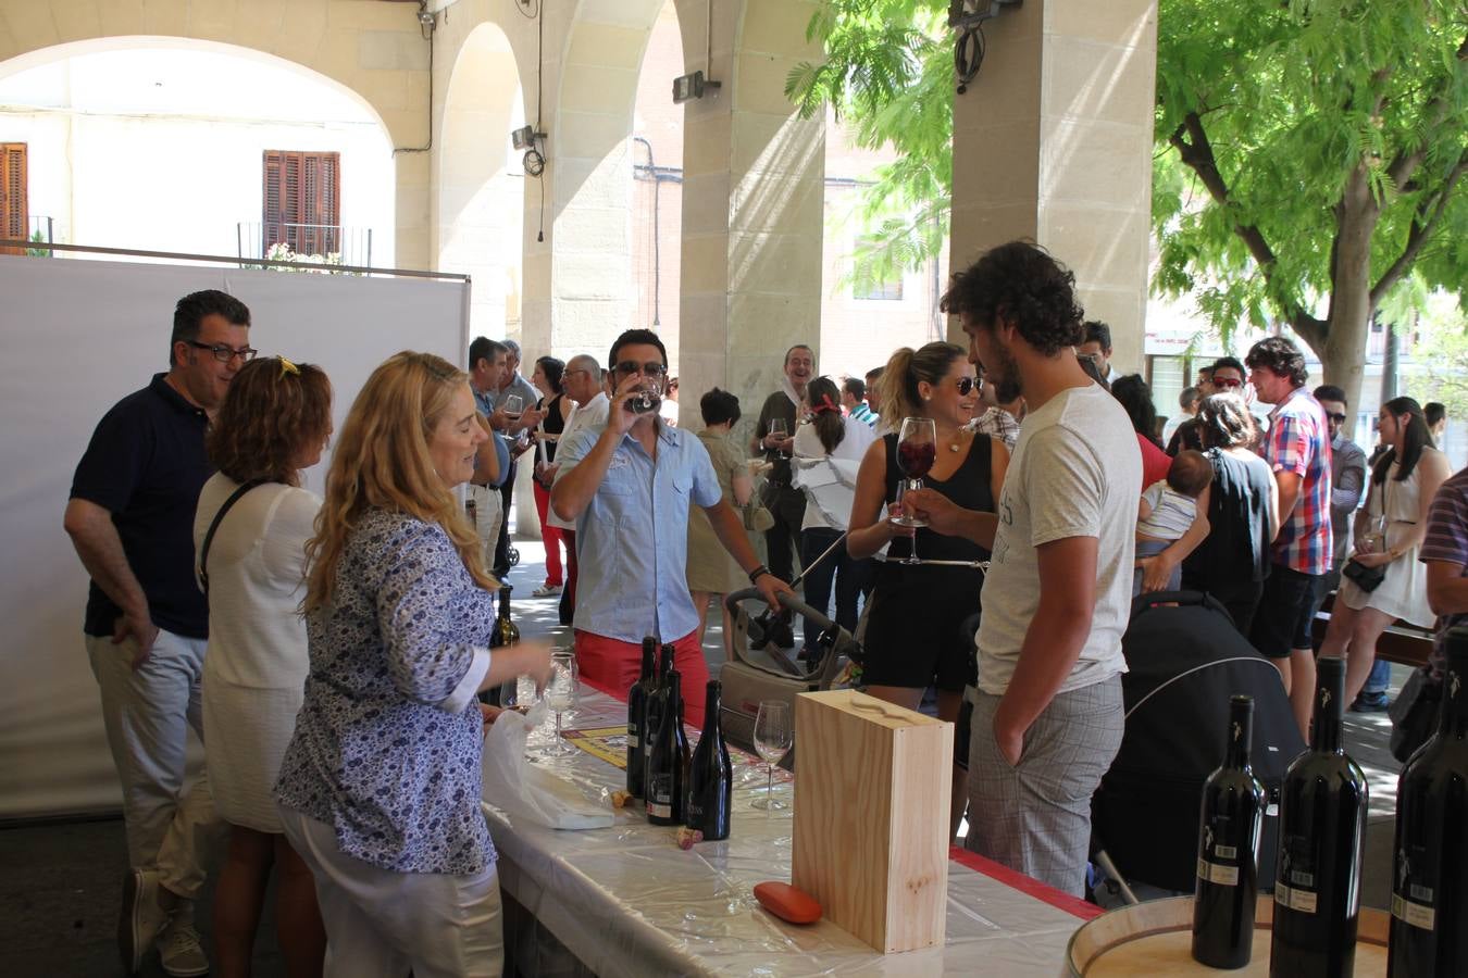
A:
[[[1268,337],[1199,372],[1164,447],[1147,384],[1114,372],[1108,328],[1044,249],[986,252],[942,308],[966,346],[898,349],[860,378],[790,348],[744,444],[730,391],[699,396],[699,431],[678,424],[666,349],[637,328],[605,368],[542,356],[528,380],[512,342],[476,339],[467,371],[398,353],[333,433],[320,368],[257,358],[229,295],[181,299],[169,369],[101,419],[66,510],[123,787],[129,974],[153,947],[172,975],[250,974],[272,872],[292,977],[499,974],[479,808],[498,711],[476,695],[550,670],[543,641],[490,650],[526,455],[534,597],[559,601],[587,682],[631,686],[656,635],[702,689],[709,600],[753,587],[778,606],[799,569],[803,600],[860,630],[869,694],[916,708],[932,689],[967,723],[963,845],[1067,893],[1122,742],[1133,595],[1218,597],[1302,726],[1329,591],[1323,651],[1368,708],[1384,628],[1468,619],[1468,474],[1449,478],[1417,402],[1381,406],[1368,463],[1345,394],[1307,391],[1301,352]],[[935,460],[900,491],[907,418]],[[319,497],[301,472],[329,440]],[[821,642],[807,622],[804,655]],[[207,760],[192,784],[188,727]],[[210,962],[192,902],[217,845]]]

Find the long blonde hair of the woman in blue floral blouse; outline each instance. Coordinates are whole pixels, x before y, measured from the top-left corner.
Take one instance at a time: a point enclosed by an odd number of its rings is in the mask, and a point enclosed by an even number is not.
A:
[[[468,374],[442,356],[408,350],[388,358],[367,378],[336,435],[326,500],[316,518],[316,535],[305,544],[304,611],[332,603],[342,548],[367,509],[437,523],[474,581],[482,588],[499,588],[484,572],[479,534],[429,455],[435,425],[467,383]]]

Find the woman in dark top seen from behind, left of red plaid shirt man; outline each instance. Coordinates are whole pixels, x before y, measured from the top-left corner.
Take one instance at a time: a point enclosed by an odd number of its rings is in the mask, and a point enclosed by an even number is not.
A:
[[[1279,531],[1279,487],[1268,463],[1249,449],[1257,431],[1242,397],[1205,397],[1196,431],[1213,463],[1213,484],[1198,497],[1208,535],[1183,559],[1182,584],[1218,598],[1248,636],[1270,573],[1270,541]]]

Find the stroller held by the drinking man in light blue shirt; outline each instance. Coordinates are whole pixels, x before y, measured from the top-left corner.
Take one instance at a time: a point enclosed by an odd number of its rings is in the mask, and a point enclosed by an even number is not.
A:
[[[797,661],[794,630],[788,614],[769,607],[757,588],[735,591],[724,598],[734,619],[734,657],[724,663],[719,682],[724,683],[721,720],[730,743],[755,751],[755,714],[762,699],[782,699],[794,710],[796,694],[831,689],[856,650],[856,641],[844,628],[797,598],[781,594],[784,611],[806,617],[821,629],[813,661]],[[859,655],[857,655],[859,657]],[[797,745],[799,746],[799,745]],[[780,762],[794,770],[791,749]]]

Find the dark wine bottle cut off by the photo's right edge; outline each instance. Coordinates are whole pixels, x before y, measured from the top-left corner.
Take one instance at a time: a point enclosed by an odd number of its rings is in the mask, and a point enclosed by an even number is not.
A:
[[[1468,628],[1447,632],[1437,733],[1396,790],[1387,975],[1468,974]]]

